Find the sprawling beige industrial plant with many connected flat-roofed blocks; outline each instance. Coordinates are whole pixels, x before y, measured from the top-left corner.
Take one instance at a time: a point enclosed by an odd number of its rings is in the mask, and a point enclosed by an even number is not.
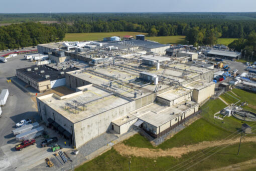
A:
[[[66,55],[89,66],[65,72],[75,92],[37,97],[41,119],[64,128],[80,147],[106,131],[121,135],[133,127],[161,137],[193,117],[214,94],[213,69],[161,56],[168,45],[144,41],[63,43]]]

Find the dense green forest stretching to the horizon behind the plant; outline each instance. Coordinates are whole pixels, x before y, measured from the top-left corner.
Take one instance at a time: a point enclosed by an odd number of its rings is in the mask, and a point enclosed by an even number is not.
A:
[[[42,19],[57,23],[36,23]],[[22,23],[0,27],[0,49],[62,40],[65,33],[74,32],[186,35],[190,44],[203,45],[215,44],[218,37],[247,38],[256,31],[256,12],[0,14],[0,23],[8,21]]]

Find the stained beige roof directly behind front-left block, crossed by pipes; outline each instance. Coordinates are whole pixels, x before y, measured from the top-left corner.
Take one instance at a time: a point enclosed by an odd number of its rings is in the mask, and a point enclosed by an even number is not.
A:
[[[111,91],[115,91],[132,99],[149,95],[153,93],[156,88],[155,84],[148,84],[148,82],[137,79],[140,77],[140,71],[133,72],[125,68],[122,69],[118,66],[105,68],[98,67],[95,69],[80,70],[77,72],[73,71],[68,74],[102,86]],[[149,72],[149,74],[154,73]],[[111,86],[110,82],[112,82]],[[170,85],[162,84],[159,90],[169,86]],[[135,97],[135,92],[137,92],[137,97]]]

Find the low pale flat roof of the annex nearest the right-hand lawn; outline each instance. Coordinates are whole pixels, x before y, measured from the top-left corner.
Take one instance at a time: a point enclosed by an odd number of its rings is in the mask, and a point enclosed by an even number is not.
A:
[[[131,112],[130,114],[137,116],[147,123],[159,127],[162,124],[178,117],[179,114],[194,107],[195,105],[198,105],[198,103],[189,100],[186,101],[186,104],[185,101],[182,101],[174,106],[164,106],[158,103],[151,103]]]

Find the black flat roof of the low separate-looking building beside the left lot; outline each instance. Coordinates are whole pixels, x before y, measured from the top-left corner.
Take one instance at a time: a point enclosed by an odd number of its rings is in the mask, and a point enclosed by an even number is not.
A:
[[[35,68],[38,68],[38,69],[35,70]],[[27,71],[27,69],[31,69],[31,71]],[[77,67],[67,67],[65,70],[58,70],[48,65],[38,65],[38,66],[31,66],[31,67],[16,69],[16,71],[22,72],[23,74],[26,74],[28,77],[31,77],[36,81],[45,81],[45,80],[56,80],[56,79],[64,78],[65,74],[60,74],[61,71],[68,72],[68,71],[74,71],[78,69],[79,68]],[[44,70],[44,72],[41,73],[41,70]],[[49,75],[49,77],[45,78],[45,75]]]

